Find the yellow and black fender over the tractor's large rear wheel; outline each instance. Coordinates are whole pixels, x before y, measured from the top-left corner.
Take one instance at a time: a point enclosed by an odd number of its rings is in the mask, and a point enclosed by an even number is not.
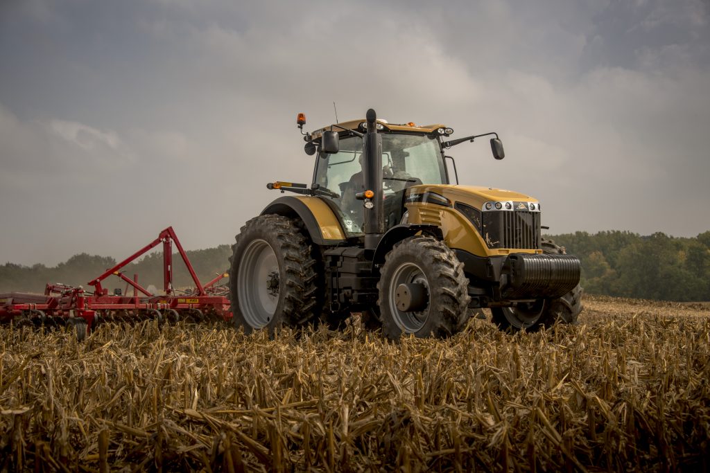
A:
[[[313,243],[321,246],[338,245],[346,242],[345,232],[337,216],[322,199],[317,196],[283,196],[268,204],[261,215],[276,213],[302,221]]]

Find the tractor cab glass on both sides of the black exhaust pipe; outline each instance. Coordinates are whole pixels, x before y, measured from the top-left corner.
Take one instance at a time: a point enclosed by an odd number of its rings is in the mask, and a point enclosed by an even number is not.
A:
[[[322,198],[337,207],[348,236],[363,234],[364,208],[355,194],[365,190],[362,173],[363,139],[340,139],[339,152],[320,155],[315,184]],[[387,228],[398,224],[405,189],[417,184],[447,183],[444,161],[436,138],[426,135],[382,133],[384,215]]]

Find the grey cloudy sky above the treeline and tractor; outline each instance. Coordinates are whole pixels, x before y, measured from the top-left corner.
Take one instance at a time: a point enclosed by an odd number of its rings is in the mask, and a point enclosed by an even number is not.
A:
[[[446,123],[461,183],[551,233],[710,229],[710,4],[0,2],[0,262],[231,243],[310,182],[295,126]]]

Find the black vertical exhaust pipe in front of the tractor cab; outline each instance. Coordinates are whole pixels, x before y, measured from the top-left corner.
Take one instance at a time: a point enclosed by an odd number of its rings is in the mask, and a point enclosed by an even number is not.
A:
[[[364,152],[364,184],[366,190],[375,194],[373,208],[365,208],[365,247],[376,249],[385,233],[382,195],[382,136],[377,133],[377,113],[370,108],[367,111],[367,133]]]

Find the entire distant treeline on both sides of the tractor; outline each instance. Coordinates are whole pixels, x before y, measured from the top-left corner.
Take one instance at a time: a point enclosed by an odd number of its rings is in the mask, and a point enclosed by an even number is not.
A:
[[[710,301],[710,231],[696,238],[674,238],[664,233],[642,236],[627,231],[567,233],[550,235],[582,262],[582,284],[589,294],[606,294],[665,301]],[[207,282],[229,265],[229,245],[188,251],[200,281]],[[83,285],[114,266],[111,257],[86,253],[70,257],[56,267],[32,267],[7,263],[0,266],[0,293],[44,291],[45,283]],[[173,255],[175,287],[191,287],[182,260]],[[124,268],[126,277],[138,274],[143,287],[163,289],[163,254],[154,252]],[[117,277],[106,279],[104,287],[126,290]],[[226,283],[226,280],[224,281]],[[132,289],[131,289],[132,291]],[[131,292],[129,291],[129,294]]]

